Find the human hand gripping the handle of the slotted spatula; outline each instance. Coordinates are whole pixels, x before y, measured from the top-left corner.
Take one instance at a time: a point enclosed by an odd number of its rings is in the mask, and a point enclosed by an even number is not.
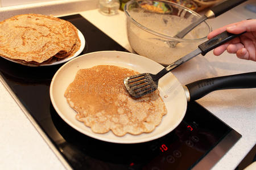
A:
[[[238,23],[225,25],[209,33],[208,39],[228,31],[230,33],[243,33],[241,36],[218,46],[213,50],[213,54],[220,56],[225,50],[228,53],[237,54],[238,58],[256,61],[256,19],[242,20]]]

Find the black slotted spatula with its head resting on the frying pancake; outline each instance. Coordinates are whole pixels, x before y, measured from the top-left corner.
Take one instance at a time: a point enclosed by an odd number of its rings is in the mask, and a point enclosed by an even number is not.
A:
[[[197,56],[200,53],[205,56],[205,54],[207,54],[210,50],[216,48],[217,46],[220,46],[221,44],[224,44],[229,40],[234,39],[235,37],[242,35],[243,33],[235,35],[227,31],[222,32],[219,35],[213,37],[212,39],[204,42],[203,44],[200,44],[198,48],[193,52],[171,63],[171,65],[165,67],[158,74],[143,73],[129,76],[123,80],[123,83],[125,84],[125,87],[129,94],[135,98],[149,94],[158,88],[158,80],[171,70],[175,69],[177,66]]]

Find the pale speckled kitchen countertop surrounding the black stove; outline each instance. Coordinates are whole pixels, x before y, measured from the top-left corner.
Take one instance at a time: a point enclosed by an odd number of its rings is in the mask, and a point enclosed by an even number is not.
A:
[[[249,2],[253,1],[246,3]],[[215,29],[243,19],[255,18],[255,13],[245,10],[246,3],[217,18],[209,19],[208,22]],[[102,15],[97,9],[73,12],[81,14],[123,47],[131,50],[126,35],[126,18],[122,11],[114,16]],[[10,15],[10,12],[1,13],[0,8],[0,14]],[[66,11],[51,14],[60,16],[73,13]],[[209,52],[205,57],[191,59],[172,73],[181,84],[187,84],[197,79],[250,71],[256,71],[256,62],[238,59],[234,54],[228,53],[216,57]],[[65,169],[2,83],[0,96],[0,169]],[[256,89],[216,91],[197,101],[242,135],[212,169],[236,168],[256,143]]]

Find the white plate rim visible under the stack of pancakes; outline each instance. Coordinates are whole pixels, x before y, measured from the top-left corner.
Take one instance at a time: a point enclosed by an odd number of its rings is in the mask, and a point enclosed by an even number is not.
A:
[[[3,57],[9,61],[12,61],[12,62],[15,62],[15,63],[19,63],[21,65],[25,65],[25,66],[31,66],[31,67],[38,67],[38,66],[52,66],[52,65],[58,65],[60,63],[64,63],[64,62],[67,62],[75,57],[77,57],[81,52],[82,50],[84,50],[84,46],[85,46],[85,39],[84,39],[84,35],[82,35],[81,31],[79,29],[77,29],[78,31],[78,35],[79,35],[79,39],[81,41],[81,46],[80,46],[80,49],[77,50],[77,52],[72,56],[72,57],[69,57],[69,58],[65,58],[65,59],[61,59],[60,61],[56,61],[56,62],[53,62],[53,63],[49,63],[49,64],[42,64],[42,65],[35,65],[35,64],[32,64],[32,63],[24,63],[24,62],[20,62],[20,61],[15,61],[13,59],[10,59],[10,58],[7,58],[7,57]],[[2,57],[2,56],[1,56]]]

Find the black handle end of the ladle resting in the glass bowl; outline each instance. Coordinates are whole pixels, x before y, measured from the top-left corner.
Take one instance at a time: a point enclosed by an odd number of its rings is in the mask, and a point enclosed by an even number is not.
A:
[[[245,1],[247,0],[228,0],[220,3],[219,5],[213,6],[212,8],[210,8],[210,10],[214,13],[214,16],[216,17],[232,9],[233,7],[240,5],[242,2]]]

